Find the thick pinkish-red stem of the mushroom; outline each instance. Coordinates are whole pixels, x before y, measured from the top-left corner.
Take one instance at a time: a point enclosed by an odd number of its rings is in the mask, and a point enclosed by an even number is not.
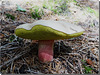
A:
[[[54,40],[39,40],[38,57],[41,62],[49,62],[53,59]]]

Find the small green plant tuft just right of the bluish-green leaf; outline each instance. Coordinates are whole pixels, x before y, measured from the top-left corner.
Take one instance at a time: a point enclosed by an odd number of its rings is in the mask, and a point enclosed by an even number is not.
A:
[[[40,9],[38,6],[31,8],[30,11],[34,19],[41,19],[41,17],[44,15],[43,9]]]

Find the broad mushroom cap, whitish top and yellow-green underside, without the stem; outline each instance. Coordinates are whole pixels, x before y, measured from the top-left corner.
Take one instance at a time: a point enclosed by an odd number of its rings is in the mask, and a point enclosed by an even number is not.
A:
[[[21,38],[32,40],[69,39],[83,34],[80,26],[64,21],[38,20],[18,26],[15,34]]]

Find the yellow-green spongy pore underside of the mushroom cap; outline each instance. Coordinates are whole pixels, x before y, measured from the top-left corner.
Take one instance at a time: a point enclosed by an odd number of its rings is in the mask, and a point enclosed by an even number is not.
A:
[[[16,29],[15,34],[21,38],[32,40],[56,40],[56,39],[69,39],[80,36],[83,32],[75,34],[65,34],[63,32],[54,30],[47,26],[36,25],[31,30],[23,28]]]

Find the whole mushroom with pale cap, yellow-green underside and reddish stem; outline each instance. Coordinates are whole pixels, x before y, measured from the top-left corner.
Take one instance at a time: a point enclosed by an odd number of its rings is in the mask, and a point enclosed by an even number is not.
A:
[[[54,40],[78,37],[83,32],[80,26],[53,20],[38,20],[20,25],[15,30],[15,34],[21,38],[38,40],[38,57],[41,62],[53,60]]]

